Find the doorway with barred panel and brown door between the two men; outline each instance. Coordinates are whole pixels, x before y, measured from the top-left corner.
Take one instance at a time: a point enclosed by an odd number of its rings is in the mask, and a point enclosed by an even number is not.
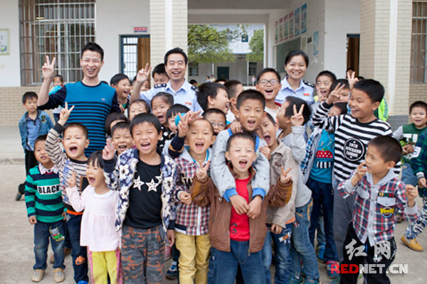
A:
[[[132,80],[150,64],[149,35],[120,35],[120,72]]]

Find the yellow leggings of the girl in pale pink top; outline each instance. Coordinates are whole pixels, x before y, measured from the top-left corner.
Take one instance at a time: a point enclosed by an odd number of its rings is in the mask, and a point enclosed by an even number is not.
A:
[[[90,251],[88,249],[88,259],[92,284],[107,283],[107,275],[110,275],[111,284],[123,284],[119,248],[115,251]]]

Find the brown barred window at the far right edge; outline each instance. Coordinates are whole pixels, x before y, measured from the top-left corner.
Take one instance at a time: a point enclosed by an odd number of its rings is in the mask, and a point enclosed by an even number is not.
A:
[[[411,83],[427,83],[427,0],[412,1]]]

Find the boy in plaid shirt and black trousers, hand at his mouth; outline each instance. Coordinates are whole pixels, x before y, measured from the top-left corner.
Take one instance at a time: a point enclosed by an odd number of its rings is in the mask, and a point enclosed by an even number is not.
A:
[[[352,178],[339,184],[344,198],[357,193],[352,222],[344,241],[344,261],[341,268],[351,264],[374,264],[376,273],[367,273],[367,283],[390,283],[386,270],[394,261],[396,242],[395,210],[404,212],[408,221],[418,215],[415,205],[416,188],[405,185],[393,167],[399,162],[402,148],[391,136],[378,136],[368,143],[365,161],[360,163]],[[371,268],[369,268],[369,272]],[[357,283],[359,273],[341,273],[340,283]]]

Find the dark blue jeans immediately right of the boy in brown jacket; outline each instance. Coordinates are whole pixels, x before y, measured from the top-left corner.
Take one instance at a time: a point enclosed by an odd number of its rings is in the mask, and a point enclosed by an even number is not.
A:
[[[271,241],[274,243],[274,254],[277,260],[275,265],[274,282],[278,284],[289,283],[290,273],[290,236],[292,236],[292,224],[287,224],[280,234],[267,231],[263,246],[263,263],[265,272],[265,283],[271,283],[270,266],[273,256]]]

